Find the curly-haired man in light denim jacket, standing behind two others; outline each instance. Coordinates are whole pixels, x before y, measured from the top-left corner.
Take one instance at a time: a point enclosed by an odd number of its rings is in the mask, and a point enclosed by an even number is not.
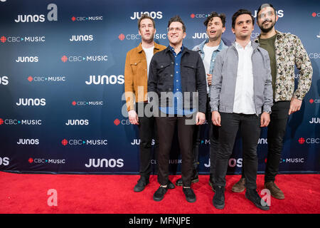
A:
[[[218,14],[217,12],[212,12],[210,16],[206,18],[206,21],[203,22],[206,26],[206,33],[208,38],[199,45],[193,48],[193,51],[197,51],[202,60],[203,65],[206,70],[206,83],[207,83],[207,105],[206,105],[206,120],[208,120],[208,131],[210,138],[210,178],[209,185],[214,191],[214,170],[215,170],[215,156],[218,151],[218,127],[213,125],[211,121],[211,112],[210,112],[210,86],[212,81],[212,72],[213,67],[215,66],[215,57],[220,51],[228,46],[223,43],[221,40],[222,34],[225,32],[225,14]],[[200,145],[200,132],[201,126],[196,125],[196,128],[193,133],[193,176],[191,182],[196,183],[199,181],[198,178],[198,150]],[[182,185],[182,179],[176,181],[177,186]]]

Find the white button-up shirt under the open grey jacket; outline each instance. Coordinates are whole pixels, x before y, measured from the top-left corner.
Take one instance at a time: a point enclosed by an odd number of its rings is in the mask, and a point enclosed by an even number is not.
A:
[[[243,48],[235,42],[238,51],[237,82],[235,83],[235,100],[233,113],[255,114],[255,102],[253,100],[253,73],[251,41]]]

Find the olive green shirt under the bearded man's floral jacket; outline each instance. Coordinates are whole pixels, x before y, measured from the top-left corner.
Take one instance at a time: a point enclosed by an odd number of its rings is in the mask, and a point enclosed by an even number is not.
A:
[[[274,41],[277,35],[274,35],[270,38],[259,38],[259,43],[262,48],[267,50],[270,58],[270,68],[271,68],[271,76],[272,76],[272,90],[273,90],[273,98],[275,97],[275,82],[277,78],[277,62],[275,59],[275,48]]]

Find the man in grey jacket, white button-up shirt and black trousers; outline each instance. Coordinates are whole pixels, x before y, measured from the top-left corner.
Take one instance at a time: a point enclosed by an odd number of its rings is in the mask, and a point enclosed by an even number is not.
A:
[[[213,69],[210,106],[213,124],[219,127],[213,206],[218,209],[225,206],[225,175],[238,130],[242,137],[245,197],[256,207],[269,209],[257,193],[256,181],[260,128],[270,123],[272,78],[267,51],[250,41],[254,22],[246,9],[233,15],[235,43],[218,54]]]

